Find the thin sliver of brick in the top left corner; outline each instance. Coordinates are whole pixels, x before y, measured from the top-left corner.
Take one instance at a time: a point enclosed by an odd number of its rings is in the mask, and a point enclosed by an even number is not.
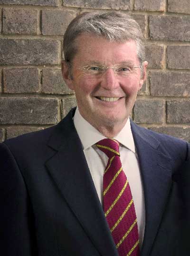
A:
[[[59,6],[59,0],[0,0],[0,4],[28,4],[42,6]]]

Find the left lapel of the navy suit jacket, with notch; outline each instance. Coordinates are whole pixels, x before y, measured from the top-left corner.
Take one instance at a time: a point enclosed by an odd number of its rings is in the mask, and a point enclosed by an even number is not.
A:
[[[68,206],[99,254],[117,256],[71,116],[57,126],[48,145],[57,153],[46,162],[46,166]]]

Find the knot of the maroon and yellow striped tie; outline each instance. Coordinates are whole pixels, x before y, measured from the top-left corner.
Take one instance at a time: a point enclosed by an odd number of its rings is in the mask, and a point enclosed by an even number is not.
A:
[[[108,158],[119,156],[119,142],[113,138],[104,138],[95,144],[101,151],[103,151]]]

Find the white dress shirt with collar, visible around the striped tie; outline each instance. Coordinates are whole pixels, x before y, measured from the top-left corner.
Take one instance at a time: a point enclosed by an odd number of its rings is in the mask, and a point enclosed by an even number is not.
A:
[[[95,146],[95,143],[105,137],[81,116],[78,108],[76,108],[74,124],[83,146],[85,158],[93,178],[98,197],[102,204],[103,176],[104,169],[108,162],[108,157],[104,154],[104,152]],[[129,118],[123,129],[114,138],[121,144],[120,158],[123,171],[128,179],[133,196],[141,247],[145,227],[144,194],[138,156],[135,152],[135,145]]]

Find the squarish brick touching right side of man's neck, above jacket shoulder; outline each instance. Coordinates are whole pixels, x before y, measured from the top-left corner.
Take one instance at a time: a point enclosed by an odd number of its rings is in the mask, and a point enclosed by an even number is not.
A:
[[[162,123],[164,118],[164,102],[160,99],[137,99],[133,113],[136,123]]]

